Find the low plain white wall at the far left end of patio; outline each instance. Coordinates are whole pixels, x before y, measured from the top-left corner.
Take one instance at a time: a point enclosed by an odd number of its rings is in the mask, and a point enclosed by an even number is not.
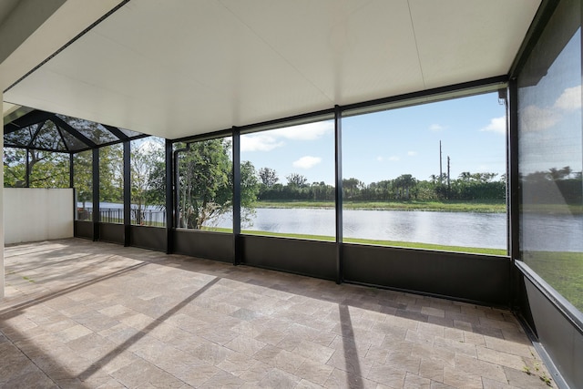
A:
[[[73,237],[73,189],[4,189],[5,244]]]

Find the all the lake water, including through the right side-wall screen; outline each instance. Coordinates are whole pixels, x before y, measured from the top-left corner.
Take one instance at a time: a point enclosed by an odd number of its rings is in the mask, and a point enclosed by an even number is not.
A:
[[[79,204],[80,205],[80,204]],[[86,204],[90,207],[90,204]],[[102,208],[121,204],[102,203]],[[334,236],[334,210],[255,210],[245,230]],[[583,215],[523,214],[524,251],[583,251]],[[213,224],[232,228],[230,215]],[[506,249],[506,214],[400,210],[344,210],[343,235],[384,241],[413,241],[448,246]]]

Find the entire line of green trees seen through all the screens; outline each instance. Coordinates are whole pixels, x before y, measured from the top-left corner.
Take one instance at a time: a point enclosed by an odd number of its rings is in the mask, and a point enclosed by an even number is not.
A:
[[[178,219],[179,227],[201,229],[221,215],[232,211],[233,172],[231,144],[228,138],[210,139],[189,144],[177,144],[179,152]],[[5,186],[68,187],[68,156],[59,153],[30,151],[26,168],[26,151],[5,148]],[[123,201],[123,149],[121,145],[100,148],[100,200]],[[82,208],[92,200],[92,152],[75,155],[74,184]],[[147,207],[160,210],[166,204],[166,167],[163,148],[131,149],[131,197],[137,213]],[[29,179],[26,179],[29,169]],[[280,182],[271,168],[255,169],[250,161],[240,164],[240,200],[242,219],[251,220],[256,201],[333,201],[334,187],[323,181],[310,183],[301,174],[288,175]],[[26,185],[27,184],[27,185]],[[550,203],[557,195],[568,203],[581,203],[581,172],[569,167],[537,171],[521,177],[524,202]],[[365,184],[356,178],[343,179],[343,199],[348,201],[432,201],[432,200],[504,200],[506,176],[496,173],[461,173],[457,178],[433,175],[417,179],[402,174]]]

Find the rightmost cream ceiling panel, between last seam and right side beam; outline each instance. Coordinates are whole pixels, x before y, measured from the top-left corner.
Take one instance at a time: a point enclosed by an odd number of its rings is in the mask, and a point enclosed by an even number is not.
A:
[[[409,0],[425,87],[506,74],[539,3]]]

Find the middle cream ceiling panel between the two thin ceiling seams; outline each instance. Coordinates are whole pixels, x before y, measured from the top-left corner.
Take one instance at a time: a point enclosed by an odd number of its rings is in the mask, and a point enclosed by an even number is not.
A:
[[[423,87],[406,0],[222,3],[335,104]]]

